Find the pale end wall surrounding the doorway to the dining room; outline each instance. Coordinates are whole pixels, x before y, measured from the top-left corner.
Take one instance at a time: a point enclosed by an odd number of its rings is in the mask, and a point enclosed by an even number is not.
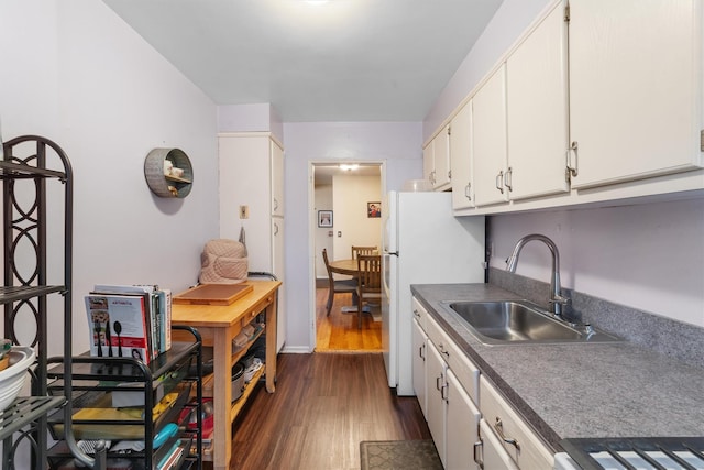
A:
[[[308,122],[284,124],[286,152],[287,351],[310,351],[315,323],[311,287],[315,261],[311,237],[309,162],[386,162],[386,189],[400,189],[422,174],[420,122]]]

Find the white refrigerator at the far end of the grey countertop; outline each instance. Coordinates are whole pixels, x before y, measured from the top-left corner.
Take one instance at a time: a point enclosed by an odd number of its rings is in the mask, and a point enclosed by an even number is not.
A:
[[[415,395],[410,285],[484,282],[484,217],[454,217],[451,193],[389,192],[382,218],[384,363],[388,386]]]

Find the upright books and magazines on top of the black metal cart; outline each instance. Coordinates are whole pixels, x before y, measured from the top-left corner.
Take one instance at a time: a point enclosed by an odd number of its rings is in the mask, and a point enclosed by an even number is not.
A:
[[[172,292],[156,285],[96,285],[86,296],[90,356],[150,363],[172,346]]]

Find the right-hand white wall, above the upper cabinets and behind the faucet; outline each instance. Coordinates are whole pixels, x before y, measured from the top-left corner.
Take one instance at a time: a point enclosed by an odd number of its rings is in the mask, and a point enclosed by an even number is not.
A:
[[[424,121],[430,135],[552,0],[505,0]],[[491,264],[504,269],[516,241],[551,237],[563,283],[585,294],[704,326],[704,200],[488,218]],[[491,247],[490,247],[491,248]],[[531,242],[518,274],[549,278],[547,250]]]

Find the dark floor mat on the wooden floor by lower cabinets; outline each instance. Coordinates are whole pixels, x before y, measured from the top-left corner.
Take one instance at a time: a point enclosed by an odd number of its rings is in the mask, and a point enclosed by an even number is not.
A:
[[[365,440],[360,442],[362,470],[442,470],[432,440]]]

